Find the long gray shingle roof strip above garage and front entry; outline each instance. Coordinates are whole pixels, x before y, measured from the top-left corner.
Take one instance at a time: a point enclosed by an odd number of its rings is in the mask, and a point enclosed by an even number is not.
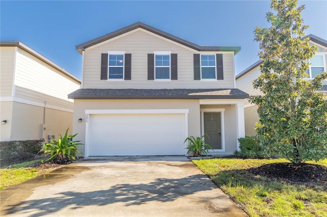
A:
[[[69,99],[245,99],[239,89],[79,89]]]

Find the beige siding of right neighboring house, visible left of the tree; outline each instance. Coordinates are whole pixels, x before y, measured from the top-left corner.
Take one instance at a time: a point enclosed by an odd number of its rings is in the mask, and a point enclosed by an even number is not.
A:
[[[258,95],[260,94],[260,90],[254,89],[252,82],[255,78],[257,78],[260,75],[260,67],[257,66],[245,75],[239,77],[236,79],[236,88],[244,91],[245,93],[248,93],[249,95]],[[244,101],[244,106],[249,105],[247,99]]]

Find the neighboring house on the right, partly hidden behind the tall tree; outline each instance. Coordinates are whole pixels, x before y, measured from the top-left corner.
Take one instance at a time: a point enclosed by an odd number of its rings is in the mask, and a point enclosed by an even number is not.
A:
[[[327,41],[319,38],[315,35],[308,35],[310,38],[310,44],[316,45],[318,50],[315,56],[310,60],[311,65],[307,73],[309,74],[308,79],[314,78],[317,74],[327,71]],[[254,89],[252,82],[255,78],[260,75],[260,65],[263,63],[262,60],[255,62],[247,69],[242,71],[236,76],[236,87],[242,91],[245,91],[249,95],[258,95],[260,90]],[[323,87],[319,92],[327,94],[327,80],[323,80]],[[245,100],[244,104],[244,116],[245,116],[245,135],[255,135],[255,123],[259,122],[259,116],[256,112],[258,106],[251,104],[248,100]]]

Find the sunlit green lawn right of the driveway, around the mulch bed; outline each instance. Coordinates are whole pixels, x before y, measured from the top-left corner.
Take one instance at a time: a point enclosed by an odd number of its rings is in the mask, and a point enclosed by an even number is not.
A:
[[[227,195],[250,216],[327,216],[327,186],[277,182],[254,176],[245,169],[285,159],[193,160]],[[327,166],[327,159],[311,164]]]

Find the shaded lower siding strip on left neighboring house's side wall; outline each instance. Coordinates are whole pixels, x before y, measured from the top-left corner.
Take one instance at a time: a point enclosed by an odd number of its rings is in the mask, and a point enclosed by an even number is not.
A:
[[[67,100],[62,100],[54,96],[50,96],[44,93],[40,93],[37,91],[33,91],[28,88],[23,88],[23,87],[16,87],[16,98],[22,99],[22,100],[28,100],[31,102],[27,103],[37,103],[37,104],[44,104],[46,103],[46,106],[55,106],[58,107],[58,109],[64,109],[64,110],[71,110],[73,111],[74,109],[74,103],[67,101]]]

